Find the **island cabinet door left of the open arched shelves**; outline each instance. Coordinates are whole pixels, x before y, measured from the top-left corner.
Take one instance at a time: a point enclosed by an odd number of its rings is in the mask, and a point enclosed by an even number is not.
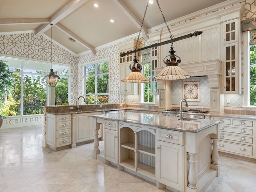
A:
[[[115,164],[118,163],[118,132],[104,129],[104,158]]]

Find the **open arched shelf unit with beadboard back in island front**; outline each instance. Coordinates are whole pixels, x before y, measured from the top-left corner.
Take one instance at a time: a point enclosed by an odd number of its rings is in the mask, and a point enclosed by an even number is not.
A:
[[[156,129],[119,122],[119,166],[155,179]]]

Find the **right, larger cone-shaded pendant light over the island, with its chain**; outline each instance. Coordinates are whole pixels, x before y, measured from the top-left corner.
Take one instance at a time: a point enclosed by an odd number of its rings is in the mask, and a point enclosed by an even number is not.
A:
[[[171,33],[169,27],[168,27],[168,24],[165,20],[165,17],[164,17],[164,14],[160,8],[160,5],[158,3],[158,0],[156,0],[157,4],[158,4],[158,7],[159,7],[159,10],[160,12],[162,13],[162,16],[164,18],[164,22],[167,26],[167,29],[170,33],[170,37],[171,37],[171,40],[173,39],[173,34]],[[173,42],[171,42],[171,49],[169,51],[170,55],[170,59],[166,59],[166,56],[164,58],[164,63],[166,64],[166,67],[158,74],[155,76],[155,79],[157,80],[178,80],[178,79],[186,79],[186,78],[190,78],[190,76],[184,71],[182,70],[178,65],[180,64],[181,62],[181,59],[179,56],[176,56],[174,53],[175,51],[173,50]]]

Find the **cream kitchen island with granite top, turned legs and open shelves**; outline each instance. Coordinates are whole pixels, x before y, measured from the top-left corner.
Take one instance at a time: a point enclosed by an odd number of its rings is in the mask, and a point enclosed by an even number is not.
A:
[[[100,154],[98,130],[102,124],[104,162],[156,182],[158,188],[204,191],[220,174],[220,121],[179,121],[177,117],[130,112],[92,117],[93,158]]]

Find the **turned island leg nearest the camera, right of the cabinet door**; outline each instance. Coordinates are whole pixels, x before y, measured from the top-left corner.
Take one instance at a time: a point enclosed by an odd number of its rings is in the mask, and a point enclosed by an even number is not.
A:
[[[188,155],[189,155],[188,187],[191,189],[197,189],[196,154],[188,153]]]

